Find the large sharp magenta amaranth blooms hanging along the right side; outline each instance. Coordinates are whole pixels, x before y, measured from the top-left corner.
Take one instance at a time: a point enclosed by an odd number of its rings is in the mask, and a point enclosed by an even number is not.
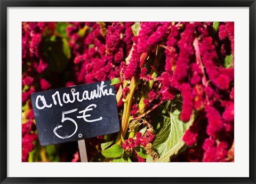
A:
[[[171,27],[166,41],[163,84],[169,89],[180,91],[183,99],[180,115],[182,121],[189,121],[195,110],[205,113],[206,135],[201,136],[206,137],[205,141],[210,137],[216,144],[220,136],[228,136],[234,131],[234,68],[224,68],[221,65],[228,54],[234,55],[234,23],[221,23],[215,37],[212,37],[213,22],[182,24],[183,31],[179,30],[179,24]],[[217,46],[220,47],[220,52],[217,52]],[[183,136],[183,141],[190,147],[197,140],[204,139],[200,137],[199,125],[193,126],[197,128],[190,127]],[[218,143],[214,149],[204,148],[203,161],[225,161],[215,157],[214,151],[219,150],[225,157],[232,143],[228,140]],[[211,154],[214,159],[209,158]]]

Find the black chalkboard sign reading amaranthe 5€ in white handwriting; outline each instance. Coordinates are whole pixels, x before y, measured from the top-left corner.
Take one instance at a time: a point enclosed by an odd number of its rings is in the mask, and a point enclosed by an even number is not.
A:
[[[42,146],[118,132],[116,94],[111,81],[31,94]]]

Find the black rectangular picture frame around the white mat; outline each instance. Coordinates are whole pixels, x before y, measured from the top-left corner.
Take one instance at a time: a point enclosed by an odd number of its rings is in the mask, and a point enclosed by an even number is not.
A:
[[[255,0],[0,0],[0,182],[1,183],[256,183],[255,181]],[[10,178],[7,177],[7,7],[249,7],[250,11],[250,168],[248,178]],[[241,168],[242,169],[242,168]]]

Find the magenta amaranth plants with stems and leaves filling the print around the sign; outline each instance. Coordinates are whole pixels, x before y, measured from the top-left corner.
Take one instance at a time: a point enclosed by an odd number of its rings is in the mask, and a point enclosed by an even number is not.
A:
[[[42,147],[30,94],[111,79],[121,131],[90,162],[234,162],[234,22],[22,22],[22,162],[79,162]]]

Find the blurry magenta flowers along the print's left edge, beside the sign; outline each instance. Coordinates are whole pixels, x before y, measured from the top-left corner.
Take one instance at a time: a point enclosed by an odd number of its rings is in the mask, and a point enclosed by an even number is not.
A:
[[[22,162],[28,161],[29,152],[37,140],[34,113],[30,95],[35,91],[50,89],[51,84],[43,78],[48,67],[45,56],[40,51],[44,34],[51,34],[54,22],[22,22]]]

